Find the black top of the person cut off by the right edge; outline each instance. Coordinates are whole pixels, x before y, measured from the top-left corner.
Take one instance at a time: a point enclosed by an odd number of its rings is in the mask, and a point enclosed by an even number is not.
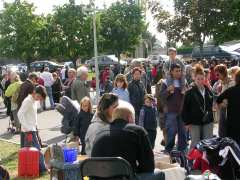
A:
[[[220,104],[223,100],[228,100],[227,106],[227,121],[226,121],[226,133],[228,137],[233,138],[240,144],[240,85],[231,87],[224,91],[217,99],[217,103]]]

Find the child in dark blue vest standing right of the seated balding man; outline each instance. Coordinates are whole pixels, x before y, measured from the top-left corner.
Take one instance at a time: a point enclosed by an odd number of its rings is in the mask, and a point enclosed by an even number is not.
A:
[[[152,145],[152,149],[154,149],[155,139],[157,135],[156,108],[153,104],[153,96],[151,94],[146,94],[144,96],[144,105],[140,111],[139,116],[139,125],[144,127],[148,132],[148,137]]]

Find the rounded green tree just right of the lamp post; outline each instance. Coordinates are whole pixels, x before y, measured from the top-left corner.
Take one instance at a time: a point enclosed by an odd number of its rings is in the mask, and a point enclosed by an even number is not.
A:
[[[117,2],[100,13],[100,36],[106,52],[120,54],[132,51],[140,42],[144,19],[139,6]]]

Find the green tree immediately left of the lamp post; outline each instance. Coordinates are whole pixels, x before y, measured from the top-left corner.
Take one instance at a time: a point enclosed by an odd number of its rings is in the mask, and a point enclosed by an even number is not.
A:
[[[93,53],[92,17],[84,5],[69,4],[57,7],[51,18],[53,56],[71,59],[90,57]]]

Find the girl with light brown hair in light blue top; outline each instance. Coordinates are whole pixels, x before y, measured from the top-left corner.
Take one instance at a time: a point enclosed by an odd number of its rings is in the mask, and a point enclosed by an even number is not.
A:
[[[114,80],[112,93],[116,94],[119,99],[130,102],[127,87],[128,83],[126,77],[123,74],[118,74]]]

